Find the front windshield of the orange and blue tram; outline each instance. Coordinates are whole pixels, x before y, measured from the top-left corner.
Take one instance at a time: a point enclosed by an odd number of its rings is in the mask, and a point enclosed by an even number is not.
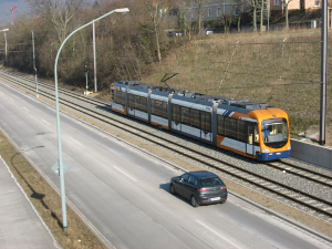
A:
[[[288,126],[286,118],[271,118],[261,123],[261,135],[267,146],[281,148],[288,142]]]

